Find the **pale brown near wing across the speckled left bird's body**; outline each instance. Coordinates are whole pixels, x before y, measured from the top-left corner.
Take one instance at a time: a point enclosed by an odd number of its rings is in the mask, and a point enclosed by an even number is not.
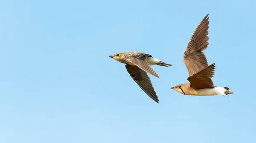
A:
[[[145,72],[160,78],[158,76],[158,74],[152,69],[150,64],[148,64],[148,62],[146,62],[146,59],[147,59],[148,56],[151,56],[151,55],[148,55],[148,54],[145,54],[145,53],[133,52],[133,54],[128,55],[128,61],[137,65],[138,67],[140,67]]]

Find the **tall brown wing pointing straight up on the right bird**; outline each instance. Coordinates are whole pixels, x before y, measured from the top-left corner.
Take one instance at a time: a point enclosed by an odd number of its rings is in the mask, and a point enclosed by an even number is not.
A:
[[[183,62],[186,65],[189,76],[192,76],[198,71],[208,67],[207,59],[202,52],[209,45],[208,28],[209,17],[207,14],[195,29],[186,51],[183,54]]]

